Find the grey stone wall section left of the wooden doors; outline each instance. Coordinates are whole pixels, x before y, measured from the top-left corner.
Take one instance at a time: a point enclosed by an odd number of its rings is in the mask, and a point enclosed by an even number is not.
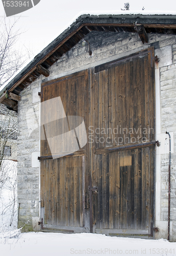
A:
[[[31,123],[35,122],[34,117],[28,115],[31,107],[39,121],[39,102],[33,103],[32,98],[36,87],[39,87],[39,82],[32,83],[23,90],[18,103],[18,224],[20,227],[28,227],[25,230],[39,228],[39,167],[32,167],[32,154],[39,152],[39,127],[30,135],[27,124],[27,118]],[[35,221],[36,224],[32,225]]]

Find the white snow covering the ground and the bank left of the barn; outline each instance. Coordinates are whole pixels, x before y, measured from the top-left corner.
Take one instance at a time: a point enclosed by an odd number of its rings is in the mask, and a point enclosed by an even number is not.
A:
[[[164,239],[117,238],[91,233],[21,233],[15,229],[16,163],[7,161],[5,166],[8,179],[0,195],[0,256],[176,255],[176,243]]]

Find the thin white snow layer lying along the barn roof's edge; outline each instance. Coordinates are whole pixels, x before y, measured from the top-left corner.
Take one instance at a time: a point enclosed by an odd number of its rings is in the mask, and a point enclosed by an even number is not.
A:
[[[22,70],[26,69],[27,66],[30,66],[30,64],[34,61],[34,59],[42,52],[44,51],[44,49],[52,44],[52,42],[59,36],[61,35],[62,33],[65,33],[67,30],[70,29],[70,27],[77,22],[77,20],[82,16],[82,17],[85,17],[85,16],[89,16],[89,17],[99,17],[99,16],[103,16],[103,17],[108,17],[108,16],[112,16],[115,18],[115,16],[119,16],[119,15],[124,15],[124,16],[133,16],[133,15],[141,15],[141,16],[148,16],[148,15],[151,15],[151,16],[155,16],[156,15],[160,15],[160,17],[162,16],[166,18],[166,16],[169,18],[176,18],[176,12],[175,11],[142,11],[142,10],[139,10],[139,11],[121,11],[121,10],[117,10],[117,11],[89,11],[87,14],[86,14],[87,11],[81,11],[80,13],[77,14],[77,16],[75,16],[74,18],[72,18],[69,22],[69,24],[67,24],[66,26],[64,26],[62,28],[62,30],[60,30],[55,37],[53,37],[52,39],[50,39],[46,46],[41,49],[41,51],[36,55],[36,56],[32,56],[32,58],[30,58],[30,60],[28,60],[28,62],[25,62],[24,65],[10,78],[10,81],[8,80],[2,87],[1,87],[1,90],[0,90],[0,96],[3,94],[3,92],[9,87],[9,83],[13,80],[13,78],[19,74]]]

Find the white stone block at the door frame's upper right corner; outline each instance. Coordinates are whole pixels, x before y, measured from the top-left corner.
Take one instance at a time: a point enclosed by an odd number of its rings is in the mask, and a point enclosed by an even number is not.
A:
[[[159,62],[155,63],[156,68],[172,65],[172,47],[165,46],[155,50],[155,56],[158,56]]]

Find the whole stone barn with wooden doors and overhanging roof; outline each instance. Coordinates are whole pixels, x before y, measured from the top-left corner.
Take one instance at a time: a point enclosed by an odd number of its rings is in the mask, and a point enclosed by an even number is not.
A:
[[[8,84],[19,227],[176,240],[175,29],[82,15]]]

